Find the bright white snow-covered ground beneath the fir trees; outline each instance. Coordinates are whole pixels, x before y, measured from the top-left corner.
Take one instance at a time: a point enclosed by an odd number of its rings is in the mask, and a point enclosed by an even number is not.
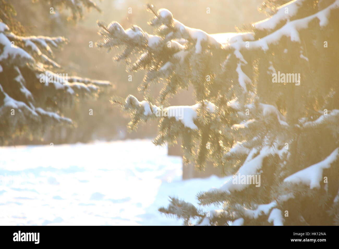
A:
[[[150,140],[0,147],[0,225],[181,225],[157,210],[168,196],[196,205],[226,180],[181,175]]]

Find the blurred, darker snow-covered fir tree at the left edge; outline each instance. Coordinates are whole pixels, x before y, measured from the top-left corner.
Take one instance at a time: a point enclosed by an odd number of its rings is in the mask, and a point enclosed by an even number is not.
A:
[[[91,0],[47,2],[51,10],[46,11],[69,8],[75,19],[82,17],[84,7],[97,8]],[[68,76],[52,50],[66,39],[26,36],[25,28],[15,21],[11,3],[1,0],[0,5],[0,144],[6,145],[18,136],[39,138],[57,123],[72,124],[62,110],[79,96],[95,96],[110,83]]]

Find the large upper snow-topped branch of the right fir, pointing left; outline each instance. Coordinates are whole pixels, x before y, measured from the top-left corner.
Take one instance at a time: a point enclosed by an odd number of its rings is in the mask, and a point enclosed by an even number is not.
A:
[[[148,34],[135,25],[124,29],[117,22],[107,26],[99,22],[102,39],[97,42],[97,46],[107,50],[124,47],[122,54],[116,57],[118,61],[131,60],[136,56],[137,60],[127,69],[129,71],[147,69],[141,87],[143,90],[147,89],[152,82],[163,82],[165,86],[160,92],[160,102],[163,102],[168,95],[175,94],[177,90],[187,88],[189,83],[196,89],[204,85],[208,87],[206,89],[208,92],[213,88],[213,77],[217,75],[221,62],[226,59],[231,50],[234,50],[225,49],[225,45],[254,39],[252,33],[207,34],[203,30],[180,23],[167,9],[159,9],[150,23],[157,27],[158,35]],[[206,67],[202,62],[206,57],[210,58],[211,62],[219,57],[220,63]],[[237,68],[237,73],[240,85],[246,91],[246,84],[251,83],[251,80],[243,73],[240,66]],[[206,84],[206,75],[212,77],[209,84]],[[178,80],[179,76],[181,80]],[[198,95],[199,100],[205,99],[204,91],[201,96]]]

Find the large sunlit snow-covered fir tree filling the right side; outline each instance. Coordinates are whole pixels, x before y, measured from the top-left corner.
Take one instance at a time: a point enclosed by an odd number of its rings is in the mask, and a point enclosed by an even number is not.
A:
[[[211,161],[231,176],[197,194],[208,212],[174,197],[159,210],[185,225],[339,225],[339,0],[269,0],[267,19],[220,34],[148,9],[155,34],[99,22],[98,46],[145,72],[143,100],[112,102],[131,129],[158,119],[156,145],[180,139],[197,170]],[[195,105],[168,106],[190,85]]]

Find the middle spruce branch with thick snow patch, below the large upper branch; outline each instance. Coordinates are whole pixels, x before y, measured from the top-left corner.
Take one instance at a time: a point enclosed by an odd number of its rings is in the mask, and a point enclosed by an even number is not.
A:
[[[140,122],[157,119],[159,132],[154,144],[175,144],[177,139],[181,139],[185,162],[195,161],[196,167],[203,169],[208,157],[222,160],[223,144],[228,144],[229,139],[219,132],[222,123],[215,120],[220,116],[213,103],[201,101],[192,106],[163,107],[147,100],[138,101],[134,96],[128,96],[125,101],[113,99],[112,103],[122,105],[131,114],[130,130],[136,129]],[[211,121],[206,123],[206,120]],[[207,150],[207,143],[212,144],[211,150]]]

